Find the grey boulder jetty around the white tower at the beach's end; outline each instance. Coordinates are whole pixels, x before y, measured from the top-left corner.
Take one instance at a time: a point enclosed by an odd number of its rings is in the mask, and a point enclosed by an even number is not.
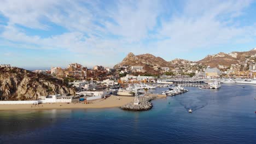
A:
[[[139,104],[134,105],[133,101],[131,103],[128,103],[126,105],[120,106],[120,109],[122,110],[128,110],[128,111],[147,111],[152,109],[153,104],[150,103],[151,100],[156,99],[156,95],[148,95],[144,97],[139,97]]]

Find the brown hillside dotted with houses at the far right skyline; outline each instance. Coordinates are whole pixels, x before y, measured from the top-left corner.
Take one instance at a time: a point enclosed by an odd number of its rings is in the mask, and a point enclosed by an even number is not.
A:
[[[210,65],[210,67],[218,67],[222,69],[230,67],[231,64],[245,62],[246,59],[254,57],[254,55],[256,55],[256,48],[245,52],[219,52],[216,55],[208,55],[198,62],[204,65]]]

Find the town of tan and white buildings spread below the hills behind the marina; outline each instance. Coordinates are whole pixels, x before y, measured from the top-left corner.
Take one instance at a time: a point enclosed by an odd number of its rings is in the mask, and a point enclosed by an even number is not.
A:
[[[236,55],[229,54],[231,57]],[[210,56],[207,56],[208,58]],[[225,57],[225,53],[218,53],[211,57],[222,58]],[[126,62],[127,63],[127,62]],[[217,64],[217,67],[210,67],[203,62],[193,62],[184,59],[174,59],[169,62],[168,67],[161,67],[158,64],[152,64],[150,62],[139,62],[131,64],[119,63],[114,68],[105,68],[102,65],[95,65],[92,69],[88,69],[85,65],[78,63],[71,63],[67,65],[66,69],[61,67],[51,67],[50,70],[33,70],[34,73],[53,75],[60,79],[74,80],[115,80],[119,83],[124,82],[153,82],[156,77],[194,77],[197,79],[204,78],[253,78],[256,76],[256,55],[248,56],[245,61],[239,61],[236,64],[230,64],[230,66]],[[10,64],[1,64],[3,67],[11,67]],[[154,72],[151,73],[152,68]]]

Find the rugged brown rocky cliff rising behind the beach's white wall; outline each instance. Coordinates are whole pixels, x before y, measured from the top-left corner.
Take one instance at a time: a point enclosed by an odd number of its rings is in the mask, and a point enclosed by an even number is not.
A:
[[[49,94],[75,94],[62,80],[20,68],[0,68],[0,100],[36,100]]]

